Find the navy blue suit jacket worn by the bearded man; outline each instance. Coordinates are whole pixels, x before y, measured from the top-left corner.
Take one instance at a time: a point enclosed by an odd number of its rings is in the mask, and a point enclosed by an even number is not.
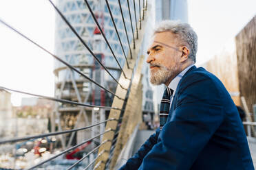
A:
[[[254,169],[242,121],[222,82],[192,66],[178,84],[167,123],[120,169]]]

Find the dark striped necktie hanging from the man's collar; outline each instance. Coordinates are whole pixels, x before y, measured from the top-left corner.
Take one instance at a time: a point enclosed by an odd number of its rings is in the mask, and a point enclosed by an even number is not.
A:
[[[170,104],[171,104],[171,97],[173,95],[173,90],[169,87],[167,87],[164,90],[164,95],[162,96],[161,104],[160,104],[160,112],[159,112],[159,119],[160,119],[160,130],[162,130],[162,127],[167,122],[167,117],[170,110]]]

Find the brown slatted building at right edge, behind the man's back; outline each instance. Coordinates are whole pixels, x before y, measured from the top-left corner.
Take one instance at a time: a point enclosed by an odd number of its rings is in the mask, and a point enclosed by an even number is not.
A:
[[[220,78],[237,106],[245,107],[241,103],[241,97],[244,97],[248,111],[254,113],[252,118],[256,121],[256,112],[253,112],[256,104],[255,30],[256,15],[204,66]]]

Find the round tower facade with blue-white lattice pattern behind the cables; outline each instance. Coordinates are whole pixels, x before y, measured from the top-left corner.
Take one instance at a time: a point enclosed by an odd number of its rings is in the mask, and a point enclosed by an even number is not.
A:
[[[118,62],[120,62],[120,66],[124,66],[124,64],[126,64],[125,55],[121,49],[118,36],[111,21],[107,4],[104,0],[88,2],[98,23],[100,24],[100,27],[103,29]],[[118,1],[111,0],[108,2],[114,16],[114,21],[122,41],[124,51],[126,56],[128,56],[127,52],[129,51],[129,44],[127,43],[125,27],[122,22]],[[129,42],[131,42],[132,34],[127,1],[121,0],[120,3],[122,4],[122,12],[125,18]],[[131,8],[131,19],[133,20],[133,23],[135,23],[134,1],[130,0],[129,4]],[[103,39],[103,36],[100,35],[100,31],[96,26],[92,14],[89,12],[85,2],[83,0],[58,0],[56,1],[56,5],[74,29],[76,29],[76,32],[85,41],[89,49],[93,51],[96,58],[98,58],[98,60],[107,67],[111,75],[118,80],[120,77],[120,68],[118,67],[107,43]],[[137,4],[136,8],[138,8]],[[138,9],[136,9],[136,12],[138,13]],[[135,27],[135,24],[133,26]],[[112,92],[116,91],[116,82],[94,59],[92,53],[84,47],[82,42],[76,37],[63,19],[58,16],[58,14],[56,15],[55,36],[56,56],[61,57],[63,60],[78,69],[78,71],[81,71],[94,81],[98,82],[98,84]],[[54,74],[56,75],[55,97],[96,106],[111,106],[113,95],[105,92],[92,82],[89,82],[89,80],[85,79],[85,77],[78,73],[74,73],[61,62],[55,62]],[[107,119],[108,114],[109,110],[107,109],[82,108],[72,106],[70,104],[56,104],[56,112],[52,115],[52,124],[56,123],[58,129],[69,130],[74,127],[84,127],[85,125],[105,120]],[[67,136],[67,138],[62,139],[63,144],[65,143],[65,145],[70,145],[71,143],[78,143],[79,141],[83,141],[85,138],[89,138],[90,136],[95,136],[99,132],[103,132],[104,129],[105,127],[102,125],[92,128],[92,132],[78,132],[78,134],[73,134],[74,137]]]

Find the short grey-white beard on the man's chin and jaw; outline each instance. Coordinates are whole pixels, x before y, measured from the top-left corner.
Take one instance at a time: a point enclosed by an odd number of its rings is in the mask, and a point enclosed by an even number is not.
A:
[[[150,71],[150,82],[153,85],[160,85],[167,82],[173,76],[175,69],[167,69],[165,66],[160,66],[158,71]],[[153,72],[153,73],[152,73]]]

